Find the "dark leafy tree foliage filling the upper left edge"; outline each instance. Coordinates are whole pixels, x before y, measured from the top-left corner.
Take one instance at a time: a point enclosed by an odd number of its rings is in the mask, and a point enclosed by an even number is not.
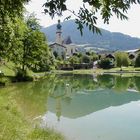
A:
[[[24,4],[29,0],[1,0],[0,1],[0,56],[6,57],[11,49],[14,38],[14,24],[17,17],[23,17]]]

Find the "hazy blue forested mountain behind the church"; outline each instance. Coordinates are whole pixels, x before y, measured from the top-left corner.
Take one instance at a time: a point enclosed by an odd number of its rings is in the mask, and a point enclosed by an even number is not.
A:
[[[91,44],[92,47],[104,48],[109,50],[130,50],[140,48],[140,38],[131,37],[119,32],[110,32],[101,29],[102,35],[97,35],[88,30],[87,27],[83,30],[83,36],[77,30],[77,25],[74,20],[69,20],[61,23],[63,39],[70,37],[73,43],[76,44]],[[47,28],[42,28],[49,42],[55,41],[56,24]]]

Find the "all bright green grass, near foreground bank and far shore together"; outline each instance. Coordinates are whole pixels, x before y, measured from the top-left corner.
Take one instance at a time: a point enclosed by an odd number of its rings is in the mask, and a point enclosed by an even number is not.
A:
[[[6,76],[15,76],[14,65],[8,64],[0,66],[0,70],[4,72]],[[73,71],[52,71],[55,74],[73,73],[73,74],[102,74],[104,72],[116,72],[120,71],[120,68],[113,68],[109,70],[103,69],[82,69]],[[123,71],[140,71],[140,68],[124,67]],[[33,73],[29,72],[29,75],[35,75],[36,77],[42,77],[47,73]],[[127,76],[129,76],[128,74]],[[140,75],[137,73],[137,75]],[[3,82],[9,82],[5,77],[1,78]],[[11,87],[12,88],[12,87]],[[1,140],[63,140],[64,137],[50,129],[41,129],[39,127],[32,127],[29,120],[26,120],[22,111],[18,108],[13,95],[10,91],[5,92],[6,88],[0,91],[0,139]],[[11,89],[12,90],[12,89]]]

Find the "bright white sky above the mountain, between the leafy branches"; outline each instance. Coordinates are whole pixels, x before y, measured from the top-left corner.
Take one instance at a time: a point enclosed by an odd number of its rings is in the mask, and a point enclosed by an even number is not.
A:
[[[44,7],[42,7],[42,5],[45,3],[45,1],[47,0],[31,0],[31,2],[25,6],[29,13],[34,12],[36,14],[36,17],[39,19],[41,26],[48,27],[57,23],[58,19],[63,21],[65,17],[70,15],[70,13],[66,12],[64,13],[63,17],[56,17],[52,20],[49,15],[45,15],[43,13]],[[78,9],[82,3],[81,1],[82,0],[67,0],[67,6],[72,10]],[[128,11],[127,16],[129,18],[127,21],[121,21],[113,16],[110,19],[109,25],[103,24],[103,21],[99,19],[97,26],[111,32],[121,32],[133,37],[140,38],[140,5],[133,5]]]

